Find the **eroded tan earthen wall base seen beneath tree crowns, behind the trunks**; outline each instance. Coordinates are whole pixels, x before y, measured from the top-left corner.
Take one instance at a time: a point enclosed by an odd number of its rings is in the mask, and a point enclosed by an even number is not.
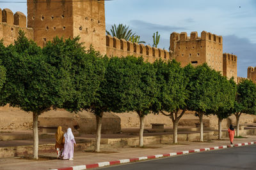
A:
[[[33,118],[31,113],[4,106],[0,108],[0,131],[5,130],[24,130],[31,129]],[[68,111],[48,111],[38,118],[41,127],[52,127],[51,131],[56,131],[58,125],[62,125],[64,131],[68,127],[72,127],[74,131],[82,133],[94,133],[96,129],[95,116],[92,113],[83,111],[74,114]],[[193,120],[193,121],[192,121]],[[218,118],[214,115],[203,118],[205,127],[213,127],[218,129]],[[240,124],[250,124],[256,121],[256,115],[241,115]],[[179,125],[195,127],[195,123],[199,122],[199,118],[195,117],[192,111],[186,111],[185,115],[180,119]],[[172,120],[162,114],[149,114],[145,116],[145,127],[151,127],[151,124],[165,124],[164,127],[173,127]],[[236,125],[236,117],[232,115],[222,121],[222,127],[227,128],[230,124]],[[140,127],[140,118],[135,112],[129,113],[104,113],[102,121],[102,133],[118,133],[120,128]],[[44,131],[43,131],[44,132]],[[49,132],[46,131],[45,132]]]

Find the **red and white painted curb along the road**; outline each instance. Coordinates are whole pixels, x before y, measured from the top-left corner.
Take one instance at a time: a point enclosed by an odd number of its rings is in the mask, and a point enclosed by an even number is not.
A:
[[[245,145],[253,145],[256,144],[255,142],[248,142],[248,143],[239,143],[235,145],[223,145],[223,146],[215,146],[212,148],[202,148],[202,149],[195,149],[195,150],[186,150],[182,152],[173,152],[173,153],[165,153],[165,154],[160,154],[160,155],[151,155],[147,157],[138,157],[138,158],[133,158],[133,159],[120,159],[120,160],[115,160],[115,161],[109,161],[109,162],[100,162],[97,164],[86,164],[83,166],[72,166],[72,167],[62,167],[58,169],[51,169],[51,170],[82,170],[82,169],[91,169],[91,168],[96,168],[96,167],[104,167],[104,166],[113,166],[116,164],[125,164],[129,162],[136,162],[140,160],[148,160],[148,159],[157,159],[161,157],[173,157],[176,155],[184,155],[188,153],[195,153],[195,152],[204,152],[207,150],[219,150],[223,148],[231,148],[231,147],[237,147],[237,146],[245,146]],[[50,169],[49,169],[50,170]]]

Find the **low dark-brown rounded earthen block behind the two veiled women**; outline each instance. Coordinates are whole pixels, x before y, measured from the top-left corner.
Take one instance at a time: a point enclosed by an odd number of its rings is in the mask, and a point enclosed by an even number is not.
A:
[[[54,128],[56,129],[61,125],[63,131],[67,131],[67,128],[70,127],[72,131],[78,131],[79,133],[94,134],[96,132],[95,115],[88,111],[77,114],[69,113],[64,110],[48,111],[38,117],[38,121],[38,126],[41,127],[41,129],[47,129],[48,127],[54,130]],[[113,113],[104,113],[102,118],[102,134],[118,133],[120,131],[120,118]]]

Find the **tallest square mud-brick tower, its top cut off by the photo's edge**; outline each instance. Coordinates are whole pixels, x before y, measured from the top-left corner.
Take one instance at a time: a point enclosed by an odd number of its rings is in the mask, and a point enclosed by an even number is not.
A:
[[[106,54],[104,0],[28,0],[28,27],[34,29],[38,45],[44,46],[55,36],[81,37],[88,47]]]

